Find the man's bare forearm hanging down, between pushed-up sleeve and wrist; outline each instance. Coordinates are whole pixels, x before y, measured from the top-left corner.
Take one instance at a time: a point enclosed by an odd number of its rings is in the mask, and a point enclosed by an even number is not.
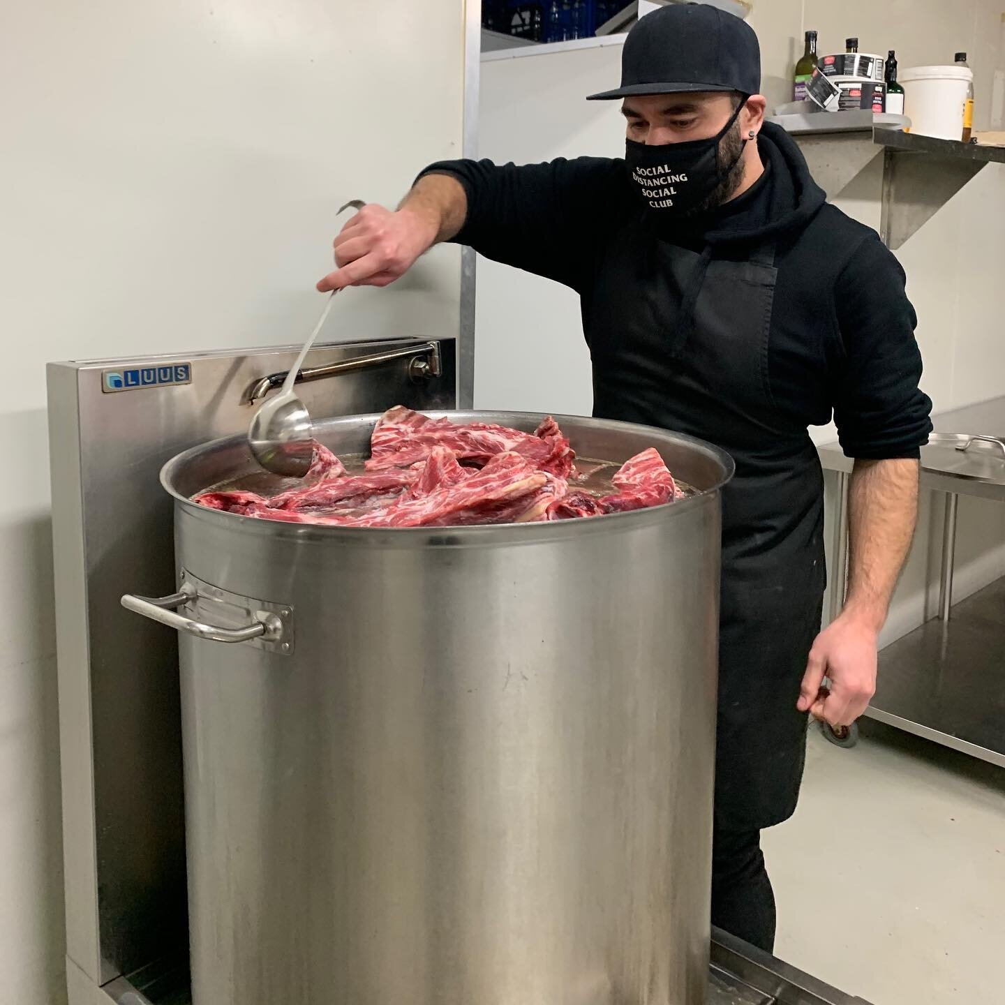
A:
[[[844,614],[878,631],[918,520],[917,460],[856,460],[848,493]]]

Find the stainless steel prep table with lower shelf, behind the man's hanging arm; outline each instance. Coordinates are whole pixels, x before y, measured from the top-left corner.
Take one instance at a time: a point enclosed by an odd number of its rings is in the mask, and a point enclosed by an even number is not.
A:
[[[933,416],[939,434],[1005,440],[1005,397]],[[987,446],[997,450],[993,444]],[[844,601],[847,491],[853,461],[836,443],[818,448],[825,470],[837,472],[831,616]],[[876,694],[866,715],[917,736],[1005,767],[1005,578],[953,606],[957,505],[961,495],[1005,502],[1005,478],[968,477],[923,449],[921,486],[946,494],[940,616],[879,654]],[[952,458],[951,458],[952,459]]]

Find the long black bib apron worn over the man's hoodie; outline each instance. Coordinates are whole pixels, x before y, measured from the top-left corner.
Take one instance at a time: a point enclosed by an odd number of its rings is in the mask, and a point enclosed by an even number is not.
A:
[[[807,725],[796,702],[825,580],[819,460],[805,418],[785,414],[769,383],[774,257],[768,245],[702,260],[640,222],[585,294],[594,415],[697,436],[737,464],[723,493],[716,777],[716,824],[729,830],[795,810]]]

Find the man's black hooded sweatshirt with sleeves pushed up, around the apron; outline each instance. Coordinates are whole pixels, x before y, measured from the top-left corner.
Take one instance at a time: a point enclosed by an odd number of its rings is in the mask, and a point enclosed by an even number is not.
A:
[[[731,260],[773,241],[767,379],[777,407],[806,426],[833,416],[849,456],[918,457],[932,429],[931,401],[919,389],[917,318],[902,268],[875,231],[824,204],[783,131],[765,127],[759,148],[767,170],[743,196],[688,223],[646,220],[647,232]],[[464,187],[467,216],[456,242],[580,293],[589,342],[598,269],[624,228],[648,212],[624,162],[449,161],[423,173],[449,174]],[[629,297],[616,309],[635,305]]]

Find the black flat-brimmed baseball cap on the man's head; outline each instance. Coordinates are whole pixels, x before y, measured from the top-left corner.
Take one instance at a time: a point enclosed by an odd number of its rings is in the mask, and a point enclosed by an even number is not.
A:
[[[735,14],[697,3],[672,3],[640,17],[621,52],[621,86],[590,94],[606,100],[630,94],[687,90],[761,89],[761,46]]]

